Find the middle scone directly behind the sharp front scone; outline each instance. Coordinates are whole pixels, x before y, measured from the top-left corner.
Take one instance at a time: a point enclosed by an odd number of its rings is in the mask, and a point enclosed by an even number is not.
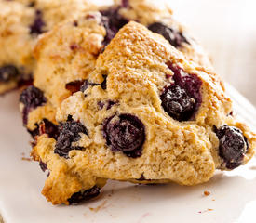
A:
[[[211,67],[202,47],[173,19],[166,6],[157,6],[155,1],[129,0],[90,11],[43,34],[35,47],[34,87],[26,89],[20,98],[23,124],[33,137],[39,134],[42,120],[56,124],[56,108],[63,99],[79,90],[104,47],[129,20],[141,22],[162,34],[186,59]],[[33,95],[37,94],[44,99],[32,105]]]

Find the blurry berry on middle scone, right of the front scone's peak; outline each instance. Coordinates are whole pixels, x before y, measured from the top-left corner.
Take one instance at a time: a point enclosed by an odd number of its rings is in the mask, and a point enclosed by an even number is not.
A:
[[[154,33],[163,35],[170,45],[174,47],[182,46],[182,43],[189,44],[183,33],[176,31],[161,22],[155,22],[148,27]]]

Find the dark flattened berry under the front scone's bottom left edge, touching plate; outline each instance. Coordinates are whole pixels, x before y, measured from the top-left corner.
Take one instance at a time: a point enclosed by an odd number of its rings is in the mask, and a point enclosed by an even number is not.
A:
[[[76,192],[71,196],[71,198],[68,199],[68,202],[69,204],[77,204],[88,201],[92,198],[97,197],[100,194],[100,190],[100,188],[94,186],[91,189]]]

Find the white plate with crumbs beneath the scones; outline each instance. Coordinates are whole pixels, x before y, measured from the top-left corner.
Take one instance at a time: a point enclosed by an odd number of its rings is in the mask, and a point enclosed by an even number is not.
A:
[[[256,117],[246,99],[233,87],[227,89],[240,101],[235,107],[243,118]],[[255,222],[255,160],[233,172],[217,172],[208,183],[196,187],[109,181],[92,202],[52,206],[40,194],[46,174],[37,163],[26,160],[29,136],[21,126],[18,93],[0,98],[0,108],[0,213],[7,223]],[[203,195],[205,190],[209,196]]]

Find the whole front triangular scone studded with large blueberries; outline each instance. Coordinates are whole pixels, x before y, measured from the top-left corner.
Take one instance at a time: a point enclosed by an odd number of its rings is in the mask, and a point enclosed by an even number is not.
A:
[[[206,182],[215,169],[234,169],[254,153],[255,135],[230,112],[215,73],[129,22],[81,91],[61,102],[56,135],[36,137],[32,155],[50,171],[43,194],[68,204],[108,178]]]

